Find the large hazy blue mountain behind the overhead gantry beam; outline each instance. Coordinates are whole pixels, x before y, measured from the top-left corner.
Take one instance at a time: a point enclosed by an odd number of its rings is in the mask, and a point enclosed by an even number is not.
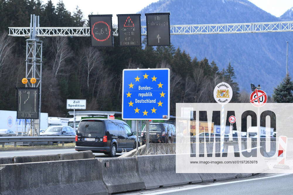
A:
[[[160,12],[171,13],[171,25],[282,20],[247,0],[161,0],[139,13]],[[145,17],[142,25],[146,25]],[[241,89],[250,91],[250,83],[260,84],[271,95],[286,75],[286,41],[293,43],[292,39],[292,32],[171,35],[171,44],[184,49],[192,58],[214,60],[220,70],[231,62]],[[290,47],[289,56],[293,56]],[[289,68],[289,73],[292,75],[293,68]]]

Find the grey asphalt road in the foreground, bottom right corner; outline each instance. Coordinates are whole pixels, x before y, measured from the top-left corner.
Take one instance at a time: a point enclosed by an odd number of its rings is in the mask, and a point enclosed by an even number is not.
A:
[[[251,179],[250,179],[251,178]],[[248,177],[242,180],[225,180],[211,184],[200,184],[192,187],[181,186],[176,189],[148,191],[140,194],[292,194],[293,174],[278,174],[268,177]]]

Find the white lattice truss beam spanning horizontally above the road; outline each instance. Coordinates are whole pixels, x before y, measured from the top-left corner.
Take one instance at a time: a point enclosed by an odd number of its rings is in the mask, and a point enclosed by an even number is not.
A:
[[[8,27],[10,36],[29,37],[30,27]],[[37,37],[72,36],[89,37],[89,27],[36,27]],[[142,26],[142,35],[147,35],[147,27]],[[201,24],[201,25],[171,25],[171,34],[226,34],[253,32],[292,32],[293,21],[238,24]],[[118,27],[113,27],[113,36],[118,36]]]

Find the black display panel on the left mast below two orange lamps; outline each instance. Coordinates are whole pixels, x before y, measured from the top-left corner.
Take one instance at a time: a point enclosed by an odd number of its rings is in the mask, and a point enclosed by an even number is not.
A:
[[[16,87],[17,118],[39,119],[39,88]]]

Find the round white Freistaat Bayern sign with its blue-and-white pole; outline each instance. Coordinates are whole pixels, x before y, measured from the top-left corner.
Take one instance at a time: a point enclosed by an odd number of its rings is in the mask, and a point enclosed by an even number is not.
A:
[[[224,118],[225,112],[224,112],[224,105],[226,103],[229,103],[231,101],[233,96],[233,91],[231,86],[228,83],[221,82],[216,85],[214,88],[214,99],[217,103],[222,105],[222,111],[221,111],[221,146],[220,146],[220,152],[224,152],[224,135],[225,135],[225,129],[226,129],[226,120]]]

